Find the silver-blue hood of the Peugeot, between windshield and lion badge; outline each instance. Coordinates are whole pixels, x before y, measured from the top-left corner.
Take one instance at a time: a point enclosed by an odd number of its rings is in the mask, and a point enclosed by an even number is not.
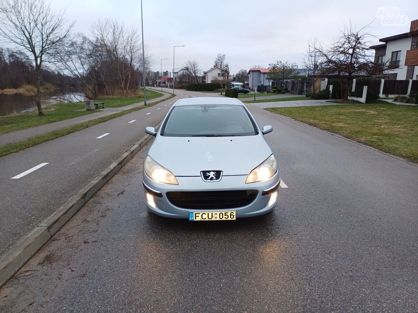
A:
[[[157,136],[148,151],[174,176],[200,176],[201,171],[248,175],[273,152],[263,135],[233,137]]]

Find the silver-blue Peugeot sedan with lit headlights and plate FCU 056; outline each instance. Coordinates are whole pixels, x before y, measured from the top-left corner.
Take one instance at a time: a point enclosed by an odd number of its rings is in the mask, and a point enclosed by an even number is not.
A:
[[[148,209],[191,221],[263,215],[278,202],[276,157],[244,104],[234,98],[176,101],[143,163]]]

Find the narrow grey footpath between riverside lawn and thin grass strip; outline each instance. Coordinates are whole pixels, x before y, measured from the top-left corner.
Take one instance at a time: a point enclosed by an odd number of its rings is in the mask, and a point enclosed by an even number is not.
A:
[[[161,91],[160,91],[161,92]],[[158,97],[158,98],[154,98],[152,100],[147,101],[148,103],[153,103],[155,101],[160,101],[163,99],[166,99],[168,97],[170,97],[171,95],[168,93],[164,93],[163,96]],[[114,114],[117,112],[122,112],[122,111],[126,111],[132,108],[136,108],[138,106],[143,106],[144,102],[138,102],[138,103],[133,103],[127,106],[121,106],[119,108],[106,108],[106,109],[101,109],[99,110],[100,112],[97,113],[93,113],[93,114],[87,114],[87,115],[83,115],[83,116],[78,116],[75,117],[74,119],[66,119],[64,121],[58,121],[58,122],[54,122],[54,123],[50,123],[50,124],[45,124],[45,125],[41,125],[41,126],[35,126],[35,127],[31,127],[31,128],[26,128],[26,129],[20,129],[17,131],[10,131],[9,133],[6,134],[0,134],[0,146],[3,146],[5,144],[11,144],[13,142],[18,142],[18,141],[22,141],[25,139],[29,139],[29,138],[33,138],[42,134],[46,134],[49,133],[51,131],[56,131],[59,129],[64,129],[66,127],[69,126],[74,126],[86,121],[90,121],[93,119],[98,119],[100,117],[103,116],[107,116],[110,114]]]

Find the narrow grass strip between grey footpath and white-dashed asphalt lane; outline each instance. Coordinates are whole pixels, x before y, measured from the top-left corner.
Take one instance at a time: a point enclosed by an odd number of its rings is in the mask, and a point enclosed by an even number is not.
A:
[[[148,90],[147,90],[148,91]],[[110,119],[114,119],[115,117],[119,117],[134,111],[138,111],[144,108],[149,108],[150,106],[153,106],[155,104],[158,104],[162,101],[166,101],[168,99],[171,99],[173,97],[175,97],[176,95],[171,95],[168,98],[153,102],[153,103],[149,103],[147,106],[138,106],[136,108],[132,108],[126,111],[122,111],[122,112],[117,112],[115,114],[111,114],[111,115],[107,115],[107,116],[103,116],[103,117],[99,117],[98,119],[93,119],[91,121],[87,121],[84,123],[80,123],[74,126],[70,126],[64,129],[60,129],[57,131],[51,131],[50,133],[47,134],[42,134],[33,138],[29,138],[29,139],[25,139],[19,142],[15,142],[12,144],[6,144],[4,146],[0,146],[0,157],[2,156],[6,156],[8,154],[14,153],[14,152],[18,152],[24,149],[28,149],[30,147],[36,146],[38,144],[42,144],[43,142],[46,141],[50,141],[71,133],[74,133],[74,131],[80,131],[82,129],[85,129],[87,127],[99,124],[99,123],[103,123],[105,121],[109,121]],[[148,97],[147,97],[148,98]]]

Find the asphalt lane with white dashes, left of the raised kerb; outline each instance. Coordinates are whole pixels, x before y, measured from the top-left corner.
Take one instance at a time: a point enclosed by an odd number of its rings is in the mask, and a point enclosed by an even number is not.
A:
[[[181,98],[182,93],[177,94],[149,108],[0,158],[0,257],[138,142],[145,135],[145,126],[157,125]],[[42,163],[48,164],[11,179]]]

